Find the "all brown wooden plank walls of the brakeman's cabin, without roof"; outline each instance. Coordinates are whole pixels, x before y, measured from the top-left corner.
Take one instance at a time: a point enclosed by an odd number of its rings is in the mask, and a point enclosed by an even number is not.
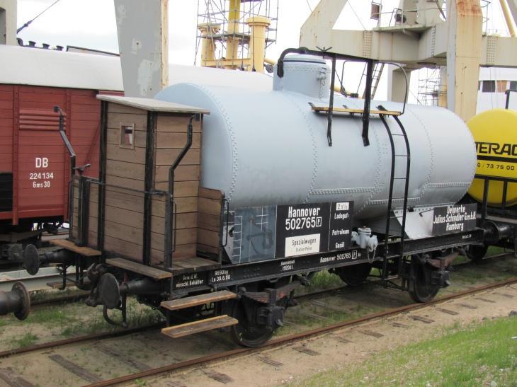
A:
[[[190,114],[178,113],[159,113],[157,116],[154,128],[155,190],[168,190],[169,167],[186,145],[190,117]],[[121,123],[135,124],[134,149],[120,147]],[[222,195],[219,191],[199,187],[201,127],[202,122],[193,121],[191,149],[174,174],[176,233],[171,236],[176,240],[174,260],[193,258],[197,250],[218,252]],[[120,187],[144,190],[147,112],[109,103],[107,139],[104,250],[142,262],[144,194]],[[98,187],[91,185],[88,246],[93,248],[97,242],[97,192]],[[151,204],[151,263],[161,267],[164,262],[166,195],[153,195]]]

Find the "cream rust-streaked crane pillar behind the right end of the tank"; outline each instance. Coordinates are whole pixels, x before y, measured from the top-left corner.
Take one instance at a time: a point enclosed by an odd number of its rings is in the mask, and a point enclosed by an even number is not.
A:
[[[467,121],[476,114],[482,11],[479,0],[453,0],[447,6],[447,106]]]

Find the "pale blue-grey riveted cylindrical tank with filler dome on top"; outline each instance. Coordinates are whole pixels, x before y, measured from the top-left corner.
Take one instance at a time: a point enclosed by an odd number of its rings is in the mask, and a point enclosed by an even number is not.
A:
[[[333,146],[326,115],[309,103],[328,105],[329,67],[319,57],[285,58],[285,75],[275,71],[273,90],[179,83],[156,98],[210,110],[205,116],[202,185],[226,193],[232,209],[268,204],[353,200],[356,219],[384,216],[391,149],[378,115],[370,119],[370,146],[363,146],[360,115],[335,113]],[[363,108],[363,100],[336,96],[334,106]],[[402,104],[372,101],[387,110]],[[400,117],[411,146],[409,207],[453,204],[465,195],[476,167],[476,149],[467,125],[443,108],[407,105]],[[387,122],[399,134],[394,118]],[[395,136],[397,154],[404,138]],[[404,177],[406,158],[395,177]],[[395,180],[394,197],[404,194]],[[394,200],[402,207],[402,200]]]

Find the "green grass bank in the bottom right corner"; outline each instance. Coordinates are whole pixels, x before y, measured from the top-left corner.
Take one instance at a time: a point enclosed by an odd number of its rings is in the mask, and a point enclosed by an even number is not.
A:
[[[315,374],[298,386],[517,386],[517,318],[455,325],[381,352],[362,364]]]

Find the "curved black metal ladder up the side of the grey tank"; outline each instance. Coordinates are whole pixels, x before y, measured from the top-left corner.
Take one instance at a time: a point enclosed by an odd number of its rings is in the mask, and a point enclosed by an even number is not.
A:
[[[382,105],[377,107],[381,111],[385,111],[388,113],[388,111],[382,107]],[[402,275],[402,268],[404,264],[404,238],[405,238],[405,231],[406,231],[406,215],[407,215],[407,202],[408,202],[408,191],[409,191],[409,171],[411,168],[411,151],[409,149],[409,140],[407,139],[407,133],[406,129],[404,129],[404,125],[402,125],[402,122],[400,121],[399,117],[397,115],[391,115],[395,122],[397,122],[397,125],[400,129],[399,133],[393,133],[390,129],[390,125],[388,125],[388,122],[386,120],[388,114],[380,114],[379,117],[382,120],[382,123],[384,124],[386,128],[386,132],[388,135],[388,138],[390,139],[390,146],[392,150],[392,163],[391,163],[391,171],[390,171],[390,190],[388,194],[388,202],[387,202],[387,219],[386,219],[386,232],[385,232],[385,252],[384,252],[384,259],[382,261],[382,269],[380,271],[380,277],[382,279],[382,283],[387,286],[388,284],[391,284],[391,281],[393,279],[397,279],[401,277]],[[402,150],[402,153],[400,152],[401,146],[398,146],[398,149],[395,149],[395,141],[394,138],[402,138],[404,139],[404,146],[405,149]],[[405,153],[404,153],[405,152]],[[401,173],[400,169],[397,168],[397,165],[402,161],[405,163],[405,175],[395,175],[395,173]],[[394,183],[396,182],[404,182],[404,196],[403,197],[393,197],[393,190],[394,190]],[[390,229],[392,226],[392,221],[394,219],[399,218],[400,216],[397,216],[394,214],[393,210],[393,202],[397,200],[402,200],[402,221],[400,222],[401,229],[399,235],[390,235]],[[393,214],[392,214],[393,212]],[[397,253],[391,253],[390,254],[390,237],[399,237],[399,250]],[[396,275],[389,275],[390,268],[388,267],[388,260],[394,260],[398,258],[398,265],[397,265],[397,274]],[[397,286],[397,285],[395,285]]]

